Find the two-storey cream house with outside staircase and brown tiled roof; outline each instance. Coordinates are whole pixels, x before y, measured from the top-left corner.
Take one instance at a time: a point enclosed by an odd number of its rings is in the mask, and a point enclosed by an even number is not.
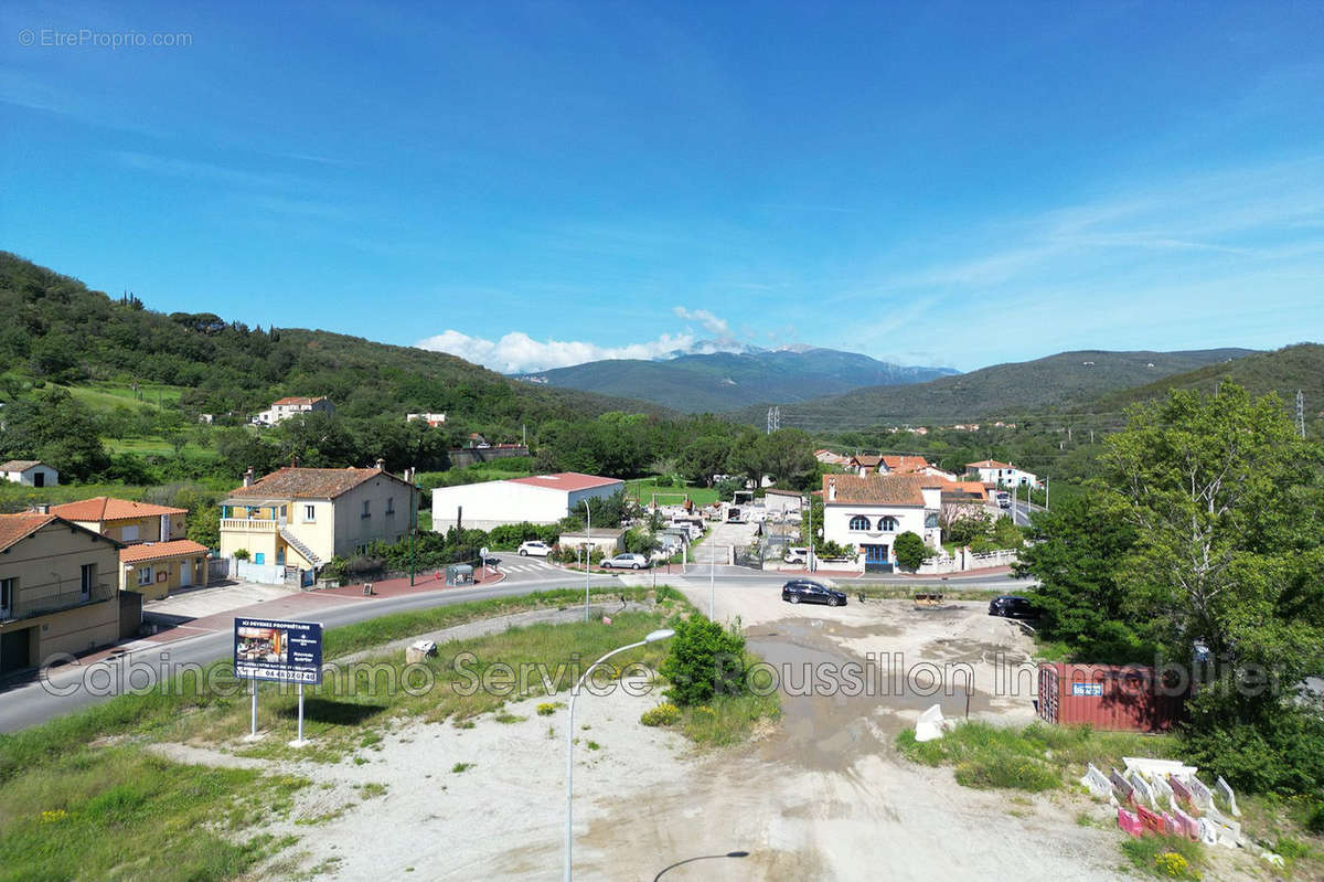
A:
[[[252,469],[221,503],[221,556],[248,552],[256,564],[318,569],[369,543],[409,535],[414,486],[383,469],[281,469],[261,481]]]

